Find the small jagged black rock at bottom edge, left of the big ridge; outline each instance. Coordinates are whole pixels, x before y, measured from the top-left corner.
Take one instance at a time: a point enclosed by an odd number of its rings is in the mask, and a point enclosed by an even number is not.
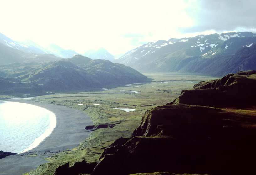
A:
[[[94,163],[76,162],[74,166],[69,167],[69,162],[56,168],[54,175],[78,175],[78,174],[91,174],[93,168],[97,165]]]

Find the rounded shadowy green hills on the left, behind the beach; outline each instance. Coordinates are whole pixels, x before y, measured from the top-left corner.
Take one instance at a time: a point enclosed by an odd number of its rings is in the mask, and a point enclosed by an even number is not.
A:
[[[49,55],[39,58],[44,57],[49,58]],[[0,73],[2,95],[81,92],[151,80],[122,64],[79,55],[67,60],[2,64]]]

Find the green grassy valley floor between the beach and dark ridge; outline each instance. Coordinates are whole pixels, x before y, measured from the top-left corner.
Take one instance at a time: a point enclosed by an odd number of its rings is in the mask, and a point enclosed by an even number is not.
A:
[[[107,124],[112,125],[113,128],[100,128],[93,131],[90,137],[83,140],[77,148],[46,158],[48,163],[40,165],[29,174],[50,175],[58,166],[67,162],[70,162],[72,166],[83,159],[86,162],[97,162],[104,148],[109,147],[116,139],[131,137],[147,110],[173,101],[180,95],[181,90],[190,89],[199,81],[213,79],[213,77],[173,73],[147,73],[145,75],[153,79],[152,83],[136,84],[135,87],[110,88],[105,91],[57,93],[33,98],[34,101],[81,110],[91,117],[94,125]],[[94,104],[100,104],[100,106]],[[135,111],[125,112],[110,107],[132,108]]]

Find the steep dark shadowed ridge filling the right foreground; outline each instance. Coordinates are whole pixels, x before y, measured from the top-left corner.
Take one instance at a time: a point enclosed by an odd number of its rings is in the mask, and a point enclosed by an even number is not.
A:
[[[256,74],[248,75],[251,73],[253,71],[239,72],[240,75],[229,74],[221,79],[200,82],[189,91],[205,95],[206,91],[214,90],[233,94],[238,99],[244,96],[248,100],[256,88]],[[243,89],[246,86],[249,87]],[[233,103],[230,99],[223,103],[214,101],[212,96],[221,100],[226,97],[214,93],[210,97],[199,96],[200,104],[196,101],[191,105],[192,100],[186,101],[190,94],[184,92],[183,98],[148,110],[131,138],[120,138],[104,150],[92,174],[253,174],[256,108],[248,106],[255,103],[250,101],[251,104],[246,103],[247,108],[238,108],[246,100]],[[208,103],[211,100],[214,102]],[[217,106],[222,108],[209,107],[216,103],[221,103]]]

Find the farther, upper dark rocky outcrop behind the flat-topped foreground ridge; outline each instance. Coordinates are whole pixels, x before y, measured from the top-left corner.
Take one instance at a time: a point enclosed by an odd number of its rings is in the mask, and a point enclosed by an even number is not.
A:
[[[228,74],[220,79],[195,84],[192,89],[183,90],[178,98],[168,104],[250,107],[256,105],[255,89],[256,74]]]

